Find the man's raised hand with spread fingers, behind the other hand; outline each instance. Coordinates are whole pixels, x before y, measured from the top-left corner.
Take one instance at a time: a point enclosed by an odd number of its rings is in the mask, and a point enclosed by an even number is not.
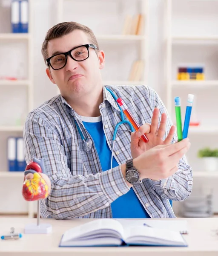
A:
[[[158,128],[158,116],[159,116],[159,109],[155,108],[152,116],[151,125],[143,124],[138,131],[135,131],[131,134],[131,153],[132,158],[136,158],[140,156],[145,151],[153,148],[157,145],[168,145],[172,141],[172,137],[175,133],[175,126],[169,130],[169,134],[167,135],[166,139],[163,140],[164,134],[166,132],[166,121],[167,116],[166,113],[163,113],[161,116],[161,124]],[[142,134],[146,134],[149,139],[148,143],[145,143],[140,137]]]

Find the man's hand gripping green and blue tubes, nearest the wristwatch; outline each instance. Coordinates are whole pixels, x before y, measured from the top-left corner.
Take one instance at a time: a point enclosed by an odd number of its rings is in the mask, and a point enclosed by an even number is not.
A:
[[[189,150],[189,139],[169,145],[158,145],[133,160],[141,178],[161,180],[172,176],[178,170],[178,162]]]

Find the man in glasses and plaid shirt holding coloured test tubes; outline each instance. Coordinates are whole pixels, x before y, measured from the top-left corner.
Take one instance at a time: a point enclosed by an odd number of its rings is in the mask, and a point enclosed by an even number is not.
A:
[[[190,143],[176,142],[157,93],[147,86],[103,86],[105,54],[81,24],[52,27],[42,54],[60,95],[31,111],[24,130],[26,162],[42,157],[52,184],[41,216],[174,218],[169,200],[185,200],[192,190],[184,156]],[[106,87],[122,97],[141,125],[133,133],[126,124],[118,128],[112,169],[112,137],[121,118]],[[140,138],[144,133],[148,143]]]

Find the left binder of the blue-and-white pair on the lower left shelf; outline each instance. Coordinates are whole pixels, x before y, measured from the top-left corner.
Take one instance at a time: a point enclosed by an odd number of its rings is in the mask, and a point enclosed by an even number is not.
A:
[[[7,142],[7,157],[8,157],[8,166],[9,172],[16,171],[17,160],[16,160],[16,138],[9,137]]]

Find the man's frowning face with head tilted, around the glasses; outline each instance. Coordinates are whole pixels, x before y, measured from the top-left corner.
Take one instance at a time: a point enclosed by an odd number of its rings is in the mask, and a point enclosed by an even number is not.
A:
[[[48,55],[56,52],[68,52],[74,47],[91,44],[89,35],[81,30],[74,30],[61,38],[52,39],[48,43]],[[104,52],[96,54],[95,49],[89,47],[89,58],[75,61],[67,56],[66,66],[60,70],[46,69],[49,79],[60,89],[62,96],[80,97],[98,91],[102,86],[100,70],[104,67]]]

